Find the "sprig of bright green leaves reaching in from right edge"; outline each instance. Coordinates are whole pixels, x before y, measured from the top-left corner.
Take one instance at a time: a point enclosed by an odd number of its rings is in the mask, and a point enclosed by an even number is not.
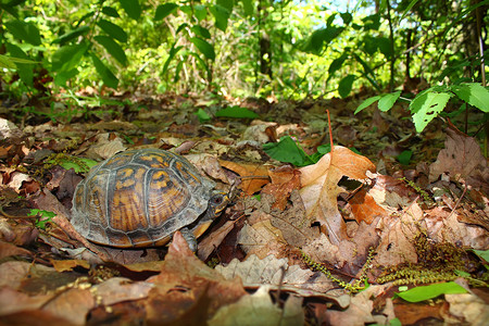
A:
[[[378,101],[378,109],[389,111],[400,98],[401,91],[375,96],[366,99],[355,110],[355,114]],[[437,117],[447,106],[449,100],[456,96],[467,104],[474,105],[480,111],[489,112],[489,90],[478,83],[464,83],[452,86],[434,86],[419,92],[414,99],[405,99],[410,102],[409,110],[417,133],[422,133],[428,123]]]

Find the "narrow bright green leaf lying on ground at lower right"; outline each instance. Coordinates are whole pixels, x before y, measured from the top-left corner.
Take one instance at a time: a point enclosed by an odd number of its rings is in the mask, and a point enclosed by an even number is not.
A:
[[[441,294],[456,294],[456,293],[466,293],[462,286],[457,285],[454,281],[448,283],[438,283],[429,286],[421,286],[412,288],[405,292],[396,293],[397,297],[400,297],[409,302],[421,302],[424,300],[429,300],[437,298]]]

